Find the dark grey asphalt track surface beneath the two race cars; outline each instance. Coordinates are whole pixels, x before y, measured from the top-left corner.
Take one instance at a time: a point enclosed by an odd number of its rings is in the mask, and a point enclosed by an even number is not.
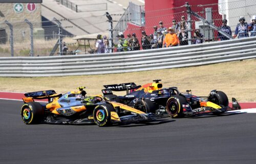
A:
[[[112,127],[25,125],[22,101],[0,104],[0,163],[256,163],[255,113]]]

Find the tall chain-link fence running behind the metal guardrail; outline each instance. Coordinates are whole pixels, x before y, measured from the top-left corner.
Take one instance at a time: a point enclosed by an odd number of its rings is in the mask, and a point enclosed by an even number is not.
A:
[[[233,35],[240,16],[244,16],[248,23],[251,22],[252,15],[256,15],[255,6],[254,0],[230,3],[223,1],[219,4],[191,5],[189,6],[191,13],[189,13],[186,6],[145,11],[144,6],[130,3],[124,14],[110,13],[113,19],[113,42],[117,46],[118,34],[123,32],[125,38],[127,34],[130,34],[131,37],[135,34],[141,49],[162,48],[162,36],[167,34],[168,31],[165,31],[165,29],[161,31],[160,21],[163,22],[163,27],[166,29],[172,28],[175,30],[179,37],[179,45],[218,41],[218,29],[213,28],[214,26],[221,27],[222,19],[226,18],[227,25],[230,26]],[[189,17],[190,21],[188,20]],[[59,46],[59,44],[63,45],[63,42],[66,43],[68,48],[66,54],[93,53],[98,34],[105,35],[107,38],[110,37],[110,22],[105,15],[59,19],[57,21],[60,22],[61,27],[54,20],[42,19],[40,22],[31,22],[33,25],[33,56],[63,55],[60,51],[63,46]],[[13,26],[14,56],[31,56],[29,25],[25,21],[9,22]],[[156,30],[154,26],[157,26]],[[185,34],[180,34],[182,28],[184,28]],[[158,30],[161,33],[157,33]],[[146,33],[147,41],[142,39],[142,31]],[[196,31],[199,31],[201,35],[198,36]],[[128,46],[132,46],[135,40],[129,38]],[[10,53],[10,28],[5,22],[0,22],[0,56],[10,56]]]

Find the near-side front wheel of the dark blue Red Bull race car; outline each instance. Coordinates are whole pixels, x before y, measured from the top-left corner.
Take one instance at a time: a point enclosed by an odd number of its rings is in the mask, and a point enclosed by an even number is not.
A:
[[[183,96],[175,95],[170,97],[166,102],[166,112],[172,118],[182,118],[184,116],[183,103],[187,103],[186,98]]]

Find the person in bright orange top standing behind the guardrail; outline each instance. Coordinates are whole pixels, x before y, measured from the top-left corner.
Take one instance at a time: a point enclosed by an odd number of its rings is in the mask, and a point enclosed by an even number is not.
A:
[[[166,48],[169,46],[177,46],[180,45],[179,38],[172,27],[168,28],[168,34],[165,35],[163,40],[163,48],[166,44]]]

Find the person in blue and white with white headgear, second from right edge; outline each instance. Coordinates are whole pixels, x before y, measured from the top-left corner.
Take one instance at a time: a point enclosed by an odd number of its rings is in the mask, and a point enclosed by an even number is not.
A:
[[[234,31],[234,38],[238,36],[238,38],[249,37],[248,34],[248,24],[245,22],[245,18],[240,16],[240,23],[237,25],[236,30]]]

